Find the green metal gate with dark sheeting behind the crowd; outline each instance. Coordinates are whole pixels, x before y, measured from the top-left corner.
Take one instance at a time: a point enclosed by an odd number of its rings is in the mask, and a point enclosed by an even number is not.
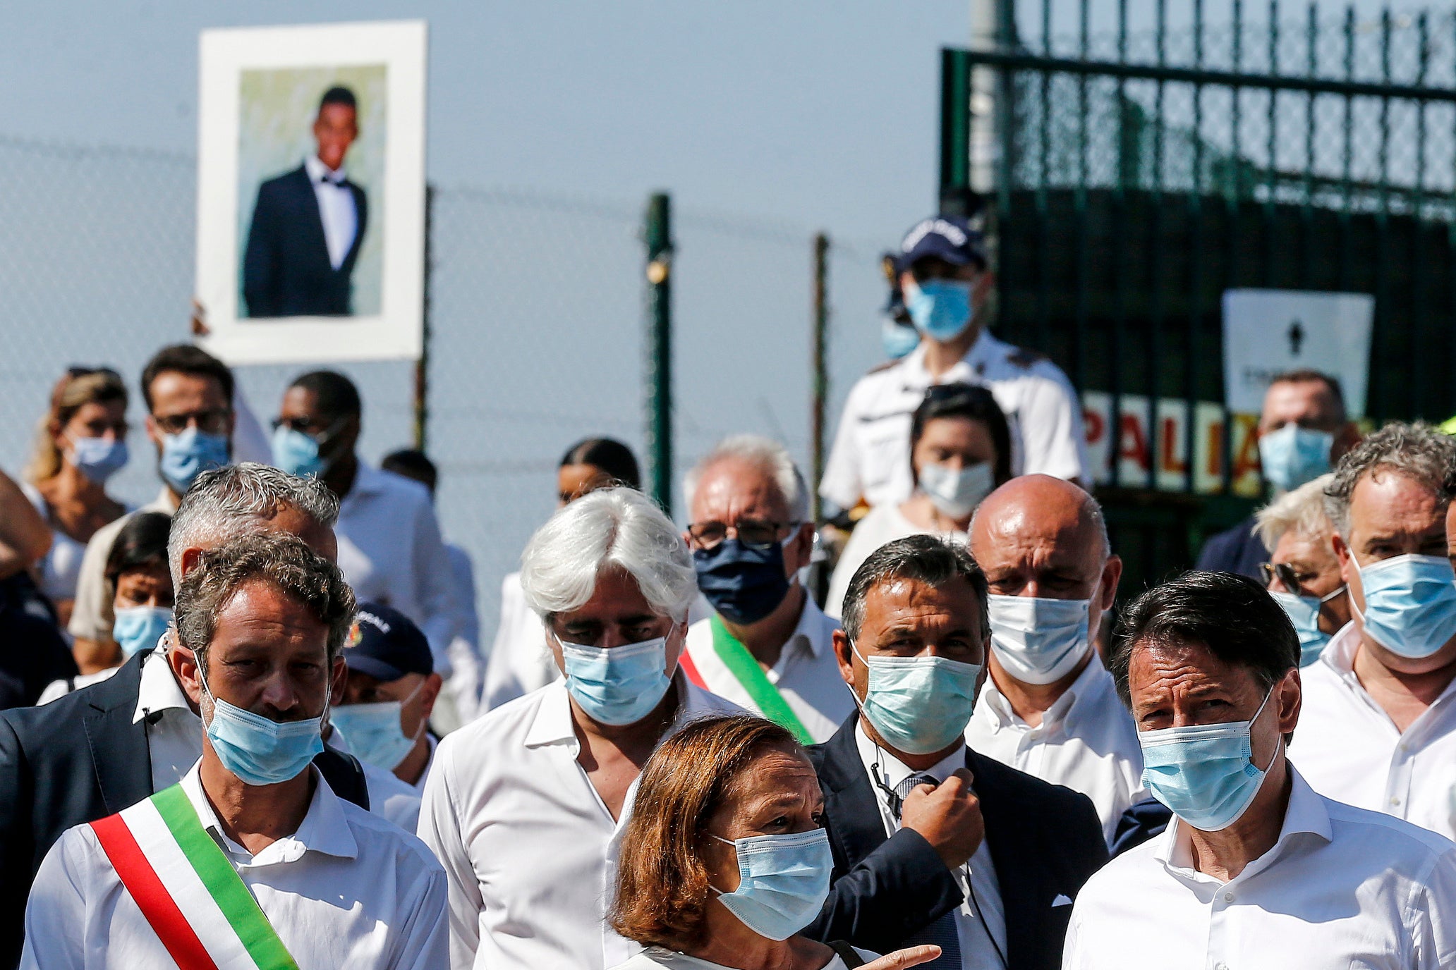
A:
[[[1063,36],[1041,0],[1025,45],[1003,0],[996,49],[942,52],[941,185],[968,186],[992,125],[996,329],[1083,394],[1131,593],[1257,502],[1252,419],[1223,406],[1226,289],[1373,294],[1367,417],[1456,413],[1456,13],[1312,4],[1291,26],[1274,0],[1254,26],[1235,0],[1213,29],[1197,0],[1171,32],[1158,0],[1130,33],[1115,6],[1093,38],[1079,0]]]

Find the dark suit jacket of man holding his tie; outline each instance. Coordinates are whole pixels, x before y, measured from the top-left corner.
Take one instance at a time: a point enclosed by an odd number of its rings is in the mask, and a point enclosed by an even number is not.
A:
[[[855,745],[850,714],[834,737],[810,747],[824,790],[834,849],[834,883],[824,912],[804,931],[888,953],[906,937],[961,905],[961,890],[925,838],[901,829],[885,838],[878,794]],[[1083,795],[1050,785],[965,749],[965,766],[986,820],[986,845],[1006,910],[1008,970],[1057,970],[1072,906],[1053,906],[1107,862],[1096,809]]]

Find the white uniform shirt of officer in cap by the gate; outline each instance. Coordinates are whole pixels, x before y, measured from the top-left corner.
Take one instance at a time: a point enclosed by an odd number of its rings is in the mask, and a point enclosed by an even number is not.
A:
[[[932,381],[926,345],[891,366],[859,378],[839,419],[820,494],[847,509],[863,496],[871,506],[910,497],[910,416],[935,384],[981,384],[1006,412],[1012,474],[1088,478],[1082,406],[1067,375],[1038,353],[981,330],[965,356]]]

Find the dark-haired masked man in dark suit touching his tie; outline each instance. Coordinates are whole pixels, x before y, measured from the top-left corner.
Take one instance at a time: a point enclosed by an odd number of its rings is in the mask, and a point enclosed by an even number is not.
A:
[[[935,969],[1056,970],[1077,890],[1107,861],[1092,801],[965,746],[990,628],[964,545],[897,540],[855,573],[840,673],[859,701],[810,749],[833,887],[805,934]]]

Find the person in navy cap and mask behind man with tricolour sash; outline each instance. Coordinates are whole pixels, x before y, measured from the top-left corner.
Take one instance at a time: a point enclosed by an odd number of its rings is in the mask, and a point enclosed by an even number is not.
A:
[[[441,688],[430,641],[405,614],[365,602],[344,643],[344,662],[349,682],[331,720],[348,752],[424,795],[435,756],[430,713]]]

